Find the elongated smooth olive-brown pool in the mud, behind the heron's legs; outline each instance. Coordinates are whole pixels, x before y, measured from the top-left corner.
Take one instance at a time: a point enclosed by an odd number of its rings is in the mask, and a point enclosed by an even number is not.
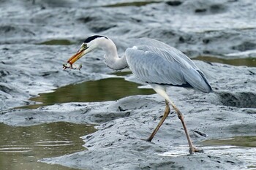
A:
[[[30,99],[42,104],[23,108],[35,109],[41,106],[67,102],[113,101],[125,96],[152,93],[154,93],[154,90],[138,88],[138,84],[135,82],[128,82],[123,78],[108,78],[67,85],[56,89],[53,93],[42,93],[38,97]]]

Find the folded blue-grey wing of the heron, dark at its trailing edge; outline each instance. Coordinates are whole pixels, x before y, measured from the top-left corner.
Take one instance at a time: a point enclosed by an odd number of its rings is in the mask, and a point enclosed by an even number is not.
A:
[[[126,50],[129,68],[143,82],[190,86],[203,92],[211,91],[206,77],[196,66],[194,68],[195,63],[191,65],[184,59],[176,59],[173,56],[178,58],[178,54],[173,50],[151,46],[138,46]]]

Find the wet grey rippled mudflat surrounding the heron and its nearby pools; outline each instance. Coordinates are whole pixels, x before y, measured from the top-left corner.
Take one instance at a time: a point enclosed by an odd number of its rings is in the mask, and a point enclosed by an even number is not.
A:
[[[45,155],[40,163],[72,169],[256,168],[254,1],[35,0],[0,1],[0,5],[0,122],[31,126],[31,131],[33,125],[55,122],[97,128],[93,134],[80,136],[88,150],[55,158]],[[17,108],[37,104],[30,98],[39,93],[78,82],[110,77],[138,82],[131,74],[118,75],[108,69],[101,51],[81,58],[80,71],[61,69],[92,34],[109,36],[121,54],[133,39],[146,36],[201,60],[195,63],[214,93],[174,87],[167,92],[184,113],[193,142],[204,153],[188,155],[187,139],[173,111],[152,142],[142,140],[165,109],[157,94]]]

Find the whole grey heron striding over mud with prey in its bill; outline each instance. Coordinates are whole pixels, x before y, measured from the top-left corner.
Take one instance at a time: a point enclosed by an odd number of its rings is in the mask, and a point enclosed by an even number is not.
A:
[[[97,49],[97,47],[105,51],[105,63],[110,69],[121,70],[129,67],[139,80],[151,85],[160,96],[165,98],[164,115],[146,141],[151,142],[155,134],[157,134],[157,131],[170,113],[170,104],[183,125],[189,143],[189,152],[202,151],[193,146],[182,113],[166,93],[166,88],[170,85],[195,88],[205,93],[212,91],[211,85],[209,85],[203,72],[197,68],[187,55],[155,39],[141,38],[135,41],[133,47],[125,50],[124,56],[119,57],[116,45],[110,38],[94,35],[89,36],[83,42],[78,53],[72,55],[67,63],[64,64],[64,69],[72,69],[72,64],[75,61],[78,61],[86,53]]]

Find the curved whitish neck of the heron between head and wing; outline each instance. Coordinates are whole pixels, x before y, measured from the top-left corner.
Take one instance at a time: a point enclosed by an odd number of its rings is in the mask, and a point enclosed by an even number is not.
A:
[[[105,39],[105,42],[102,42],[100,46],[105,51],[105,63],[110,69],[121,70],[128,66],[125,55],[122,57],[118,56],[116,45],[112,40]]]

